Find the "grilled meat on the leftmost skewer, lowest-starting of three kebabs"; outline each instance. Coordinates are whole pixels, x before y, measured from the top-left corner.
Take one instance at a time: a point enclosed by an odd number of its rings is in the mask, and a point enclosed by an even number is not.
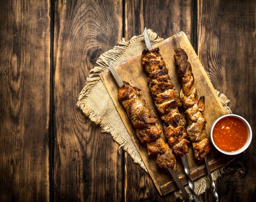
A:
[[[160,169],[176,170],[175,156],[169,145],[160,137],[162,129],[157,123],[155,112],[153,109],[146,108],[145,100],[138,96],[140,92],[140,89],[132,87],[128,82],[123,82],[118,91],[118,98],[137,129],[136,135],[141,144],[146,143],[148,155],[157,155],[157,166]]]

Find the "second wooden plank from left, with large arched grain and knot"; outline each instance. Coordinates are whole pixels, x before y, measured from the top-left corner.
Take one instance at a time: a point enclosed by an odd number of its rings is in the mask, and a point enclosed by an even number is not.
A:
[[[95,58],[118,43],[122,2],[56,1],[54,201],[120,201],[119,145],[76,102]]]

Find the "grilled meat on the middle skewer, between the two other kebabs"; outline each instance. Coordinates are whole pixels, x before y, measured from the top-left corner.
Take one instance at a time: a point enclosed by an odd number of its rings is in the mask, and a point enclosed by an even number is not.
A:
[[[141,55],[144,69],[148,73],[148,86],[161,119],[167,125],[165,136],[177,156],[189,152],[187,144],[186,120],[179,113],[181,101],[175,92],[168,69],[159,53],[159,48],[145,49]]]

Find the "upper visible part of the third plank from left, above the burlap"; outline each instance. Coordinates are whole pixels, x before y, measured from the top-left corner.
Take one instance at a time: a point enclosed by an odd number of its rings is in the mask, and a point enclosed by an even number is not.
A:
[[[142,34],[145,27],[152,29],[163,38],[168,38],[174,33],[173,22],[177,29],[184,31],[191,40],[192,0],[125,1],[126,40]]]

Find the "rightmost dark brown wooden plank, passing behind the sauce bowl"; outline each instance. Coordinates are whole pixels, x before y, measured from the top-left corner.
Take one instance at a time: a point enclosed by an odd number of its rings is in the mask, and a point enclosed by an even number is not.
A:
[[[198,0],[198,55],[213,86],[230,98],[233,113],[256,131],[255,0]],[[242,158],[217,181],[220,201],[254,201],[256,151],[253,138]],[[230,186],[232,184],[232,191]],[[211,191],[205,195],[210,201]]]

